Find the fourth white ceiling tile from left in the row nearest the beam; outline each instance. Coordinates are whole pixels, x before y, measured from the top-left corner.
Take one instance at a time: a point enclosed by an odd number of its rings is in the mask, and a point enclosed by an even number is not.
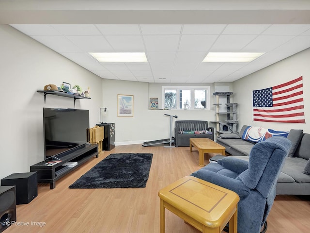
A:
[[[182,25],[140,25],[143,35],[179,35]]]

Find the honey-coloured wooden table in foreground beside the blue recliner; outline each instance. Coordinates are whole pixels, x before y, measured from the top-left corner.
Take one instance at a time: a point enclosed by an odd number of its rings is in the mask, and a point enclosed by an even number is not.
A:
[[[161,233],[165,233],[165,209],[202,233],[220,233],[228,222],[229,233],[237,233],[239,196],[229,189],[186,176],[161,189],[158,196]]]

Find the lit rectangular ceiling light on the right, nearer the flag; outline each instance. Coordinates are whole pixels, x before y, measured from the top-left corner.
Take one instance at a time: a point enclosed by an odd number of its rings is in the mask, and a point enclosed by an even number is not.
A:
[[[251,62],[264,52],[209,52],[202,62]]]

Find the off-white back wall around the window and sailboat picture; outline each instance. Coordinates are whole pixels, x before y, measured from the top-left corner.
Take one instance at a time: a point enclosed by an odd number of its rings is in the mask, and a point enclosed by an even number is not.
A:
[[[105,116],[102,115],[105,117],[102,120],[109,123],[115,122],[116,145],[169,138],[170,117],[164,114],[178,116],[178,118],[173,118],[173,130],[175,120],[215,120],[212,94],[211,110],[149,110],[150,97],[158,97],[160,102],[162,85],[167,85],[167,83],[103,80],[103,107],[108,108],[108,113]],[[169,85],[180,85],[180,83],[169,83]],[[197,83],[195,85],[197,86]],[[213,84],[199,83],[199,85],[211,85],[211,93],[214,91]],[[133,117],[117,117],[117,94],[134,96]]]

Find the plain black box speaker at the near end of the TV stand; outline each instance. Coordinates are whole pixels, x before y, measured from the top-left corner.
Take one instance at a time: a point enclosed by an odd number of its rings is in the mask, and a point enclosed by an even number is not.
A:
[[[1,179],[1,185],[16,186],[16,204],[27,204],[38,196],[38,174],[36,171],[14,173]]]

